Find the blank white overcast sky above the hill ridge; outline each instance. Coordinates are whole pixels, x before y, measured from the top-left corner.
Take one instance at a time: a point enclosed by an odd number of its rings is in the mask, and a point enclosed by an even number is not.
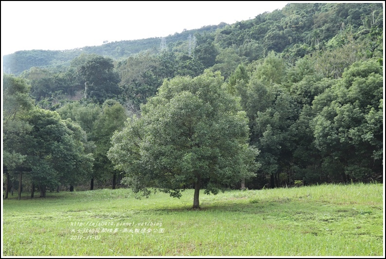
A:
[[[1,1],[1,55],[163,37],[282,9],[285,1]]]

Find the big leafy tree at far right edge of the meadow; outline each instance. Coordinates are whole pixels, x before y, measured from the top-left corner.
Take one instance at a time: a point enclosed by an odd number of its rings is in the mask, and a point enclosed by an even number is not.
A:
[[[382,73],[377,61],[356,62],[313,102],[310,125],[333,180],[382,180]]]

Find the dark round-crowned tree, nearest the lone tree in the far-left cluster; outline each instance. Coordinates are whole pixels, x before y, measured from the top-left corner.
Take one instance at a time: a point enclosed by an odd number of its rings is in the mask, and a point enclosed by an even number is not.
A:
[[[74,185],[92,169],[92,155],[85,154],[86,133],[56,112],[35,108],[25,120],[33,129],[23,139],[24,166],[29,168],[33,183],[45,197],[47,188],[60,184]]]

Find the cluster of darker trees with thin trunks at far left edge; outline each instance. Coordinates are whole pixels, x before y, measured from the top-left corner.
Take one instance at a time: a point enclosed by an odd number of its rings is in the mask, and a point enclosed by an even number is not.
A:
[[[3,172],[8,195],[10,178],[18,174],[19,197],[23,173],[45,197],[48,188],[74,185],[92,169],[81,127],[56,112],[35,107],[25,80],[3,77]]]

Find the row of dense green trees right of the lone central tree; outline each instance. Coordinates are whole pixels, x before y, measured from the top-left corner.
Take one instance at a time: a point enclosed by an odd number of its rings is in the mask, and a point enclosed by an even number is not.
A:
[[[228,84],[241,97],[251,144],[261,151],[254,187],[383,180],[383,66],[357,61],[330,79],[313,62],[306,57],[289,69],[287,80],[297,74],[297,83],[277,84],[285,72],[261,74],[269,66],[283,71],[272,53],[249,79],[240,66],[240,79]]]

